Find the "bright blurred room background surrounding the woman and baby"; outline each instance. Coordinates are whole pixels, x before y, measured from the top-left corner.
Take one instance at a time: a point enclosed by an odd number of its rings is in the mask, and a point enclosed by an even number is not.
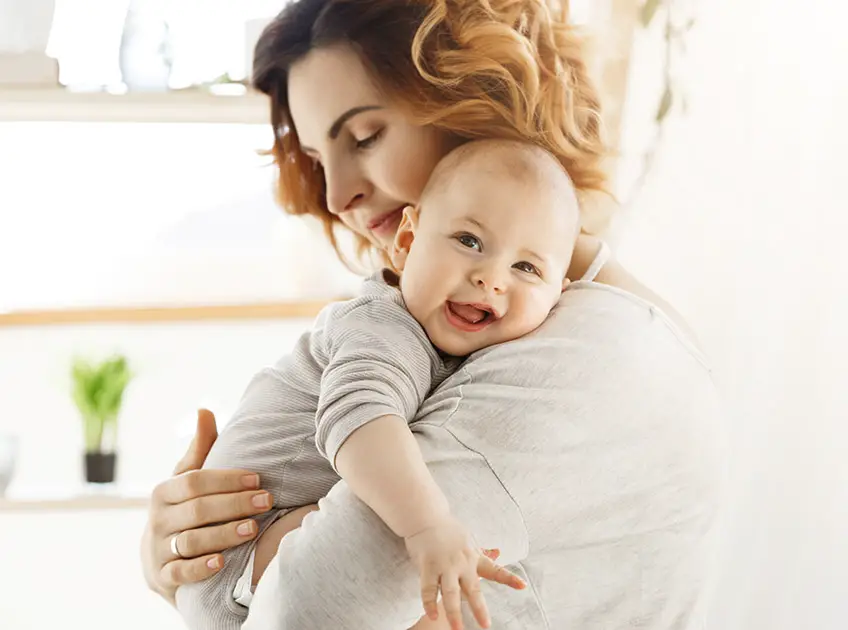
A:
[[[4,630],[180,628],[141,577],[146,496],[195,410],[226,421],[257,368],[356,286],[317,227],[272,198],[267,103],[244,79],[283,4],[0,0]],[[711,627],[841,630],[841,9],[571,5],[620,154],[607,238],[688,318],[727,401]]]

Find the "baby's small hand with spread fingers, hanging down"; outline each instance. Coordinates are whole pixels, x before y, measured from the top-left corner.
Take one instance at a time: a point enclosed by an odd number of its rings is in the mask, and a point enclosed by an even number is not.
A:
[[[430,619],[438,619],[439,591],[452,630],[462,629],[460,598],[464,594],[481,628],[489,627],[489,611],[480,592],[480,578],[515,589],[524,581],[496,565],[474,546],[465,527],[452,516],[404,539],[421,575],[421,600]],[[495,556],[496,557],[496,556]]]

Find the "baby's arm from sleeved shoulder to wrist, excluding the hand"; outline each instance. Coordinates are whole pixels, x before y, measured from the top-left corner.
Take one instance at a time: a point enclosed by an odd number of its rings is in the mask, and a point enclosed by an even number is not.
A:
[[[408,427],[442,370],[439,355],[390,299],[360,303],[321,334],[318,450],[392,531],[416,534],[449,511]]]

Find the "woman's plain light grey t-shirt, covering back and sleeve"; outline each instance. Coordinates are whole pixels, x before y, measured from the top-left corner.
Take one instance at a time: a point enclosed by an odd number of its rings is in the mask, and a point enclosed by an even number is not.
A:
[[[493,628],[700,630],[722,421],[704,358],[659,309],[578,282],[535,333],[469,357],[411,428],[457,518],[528,583],[482,584]],[[403,542],[343,481],[320,507],[281,542],[245,630],[410,627]]]

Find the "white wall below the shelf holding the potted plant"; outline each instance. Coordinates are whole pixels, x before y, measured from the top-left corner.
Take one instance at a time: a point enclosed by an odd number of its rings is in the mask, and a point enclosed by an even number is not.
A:
[[[138,565],[143,510],[0,513],[0,627],[183,630]]]

